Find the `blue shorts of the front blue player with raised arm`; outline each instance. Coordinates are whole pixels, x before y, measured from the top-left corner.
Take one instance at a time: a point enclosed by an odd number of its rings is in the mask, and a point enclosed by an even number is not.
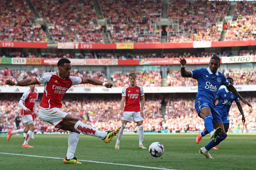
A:
[[[203,99],[203,98],[196,99],[195,109],[198,116],[199,116],[200,110],[203,109],[204,107],[207,107],[211,110],[212,122],[214,123],[222,122],[221,116],[219,115],[219,112],[217,111],[214,104],[212,104],[211,102],[208,102],[207,99]]]

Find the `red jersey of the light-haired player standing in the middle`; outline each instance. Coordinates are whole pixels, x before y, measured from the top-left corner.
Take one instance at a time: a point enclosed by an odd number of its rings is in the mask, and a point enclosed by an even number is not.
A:
[[[144,96],[143,87],[135,84],[125,86],[122,91],[122,97],[125,97],[124,112],[140,112],[140,97]]]

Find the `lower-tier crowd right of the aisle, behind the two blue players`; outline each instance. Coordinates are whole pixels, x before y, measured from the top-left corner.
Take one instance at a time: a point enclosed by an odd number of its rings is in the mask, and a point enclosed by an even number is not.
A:
[[[256,98],[248,98],[249,102],[254,106],[256,104]],[[197,116],[194,108],[194,99],[188,98],[171,98],[166,102],[166,114],[165,121],[162,122],[163,127],[169,130],[180,131],[193,131],[204,129],[203,119]],[[242,117],[237,108],[237,105],[233,102],[229,112],[231,129],[255,129],[256,128],[256,109],[250,108],[247,105],[242,104],[242,109],[245,115],[245,125],[242,125]]]

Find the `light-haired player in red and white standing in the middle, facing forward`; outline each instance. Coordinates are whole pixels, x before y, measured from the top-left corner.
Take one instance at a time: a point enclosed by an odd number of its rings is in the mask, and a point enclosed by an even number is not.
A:
[[[139,148],[146,149],[143,145],[144,132],[143,132],[143,108],[145,103],[145,95],[143,87],[136,84],[136,73],[130,73],[128,75],[129,84],[123,88],[121,99],[121,129],[118,133],[115,148],[119,149],[120,139],[123,135],[124,128],[127,122],[133,121],[137,123],[139,127]],[[141,105],[140,105],[141,99]],[[125,106],[124,106],[125,103]]]

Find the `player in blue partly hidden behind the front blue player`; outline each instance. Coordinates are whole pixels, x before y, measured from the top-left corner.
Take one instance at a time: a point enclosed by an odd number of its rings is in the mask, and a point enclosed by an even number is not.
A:
[[[231,85],[233,85],[232,78],[228,77],[227,80],[229,81],[229,83]],[[245,117],[244,117],[244,112],[243,112],[242,106],[240,104],[240,99],[236,95],[234,95],[232,92],[227,90],[227,88],[225,87],[218,91],[218,93],[215,97],[215,101],[217,101],[217,100],[219,100],[219,102],[216,105],[216,109],[219,112],[219,114],[221,115],[221,119],[222,119],[223,126],[224,126],[226,133],[229,129],[229,110],[230,110],[230,107],[231,107],[233,101],[236,101],[237,108],[242,115],[242,123],[245,124]],[[199,144],[202,137],[207,135],[208,133],[209,132],[206,129],[204,129],[203,132],[200,132],[197,135],[196,143]],[[218,148],[213,147],[213,149],[218,149]]]

